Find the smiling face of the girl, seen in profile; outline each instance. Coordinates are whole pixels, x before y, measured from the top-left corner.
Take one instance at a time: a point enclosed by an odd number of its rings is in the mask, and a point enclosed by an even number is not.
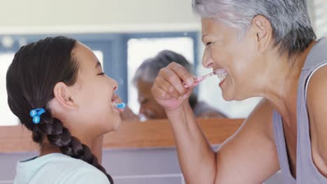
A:
[[[115,95],[118,84],[103,73],[101,64],[91,49],[77,43],[73,58],[79,65],[78,79],[71,86],[72,100],[78,106],[73,129],[82,129],[93,135],[103,135],[117,130],[121,123],[119,109],[112,102],[119,102]]]

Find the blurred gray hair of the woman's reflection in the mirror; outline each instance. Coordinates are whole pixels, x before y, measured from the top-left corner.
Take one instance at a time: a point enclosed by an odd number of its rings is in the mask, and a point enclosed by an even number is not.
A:
[[[145,82],[154,82],[161,68],[165,68],[170,63],[179,63],[184,66],[189,72],[192,70],[192,65],[181,54],[170,50],[163,50],[154,56],[154,58],[145,59],[138,67],[133,78],[133,84],[136,85],[139,79]]]

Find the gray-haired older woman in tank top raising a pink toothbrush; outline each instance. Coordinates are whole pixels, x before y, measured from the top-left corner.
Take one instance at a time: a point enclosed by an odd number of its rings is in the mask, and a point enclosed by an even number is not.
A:
[[[152,94],[173,127],[187,183],[327,183],[327,40],[315,41],[305,0],[194,0],[203,66],[223,69],[225,100],[263,100],[240,130],[212,151],[187,98],[182,66],[162,69]],[[185,88],[184,81],[191,88]],[[191,148],[191,151],[190,151]]]

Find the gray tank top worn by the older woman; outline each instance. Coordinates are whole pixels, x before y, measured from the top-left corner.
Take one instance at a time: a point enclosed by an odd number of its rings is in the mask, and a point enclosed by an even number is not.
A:
[[[298,82],[296,117],[297,117],[297,150],[296,150],[296,179],[291,175],[289,158],[286,151],[282,116],[273,112],[275,144],[279,157],[280,169],[287,184],[317,184],[327,183],[327,178],[320,174],[315,167],[311,154],[310,126],[307,115],[306,89],[313,72],[327,63],[327,39],[321,38],[316,43],[305,60]]]

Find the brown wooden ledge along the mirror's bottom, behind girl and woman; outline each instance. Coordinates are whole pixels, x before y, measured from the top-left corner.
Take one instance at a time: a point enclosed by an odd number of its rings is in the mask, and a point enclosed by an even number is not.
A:
[[[221,144],[233,135],[243,119],[199,118],[198,124],[211,145]],[[173,147],[175,142],[167,120],[124,121],[119,130],[104,136],[103,148],[164,148]],[[31,140],[31,132],[22,125],[0,126],[0,153],[37,151]]]

